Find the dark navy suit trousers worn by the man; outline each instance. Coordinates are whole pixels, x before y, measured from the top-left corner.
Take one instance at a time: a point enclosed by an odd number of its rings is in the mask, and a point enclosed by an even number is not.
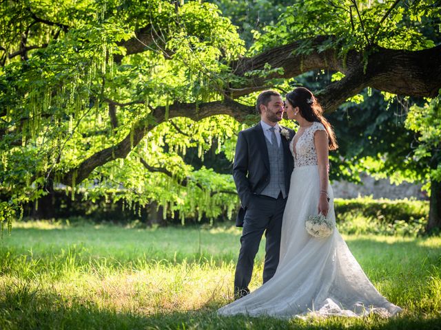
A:
[[[276,272],[280,254],[280,232],[282,229],[283,211],[287,199],[279,195],[278,199],[263,195],[253,195],[243,222],[240,237],[240,252],[234,276],[234,292],[237,295],[249,293],[254,257],[260,240],[265,232],[265,266],[263,268],[263,283],[267,282]]]

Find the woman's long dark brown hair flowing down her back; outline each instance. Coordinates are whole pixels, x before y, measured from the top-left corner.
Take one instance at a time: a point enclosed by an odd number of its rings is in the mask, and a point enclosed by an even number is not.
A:
[[[338,148],[336,134],[331,124],[323,117],[323,109],[314,94],[305,87],[297,87],[294,91],[290,91],[286,98],[293,108],[298,107],[300,115],[308,122],[320,122],[325,126],[329,137],[329,150],[336,150]]]

